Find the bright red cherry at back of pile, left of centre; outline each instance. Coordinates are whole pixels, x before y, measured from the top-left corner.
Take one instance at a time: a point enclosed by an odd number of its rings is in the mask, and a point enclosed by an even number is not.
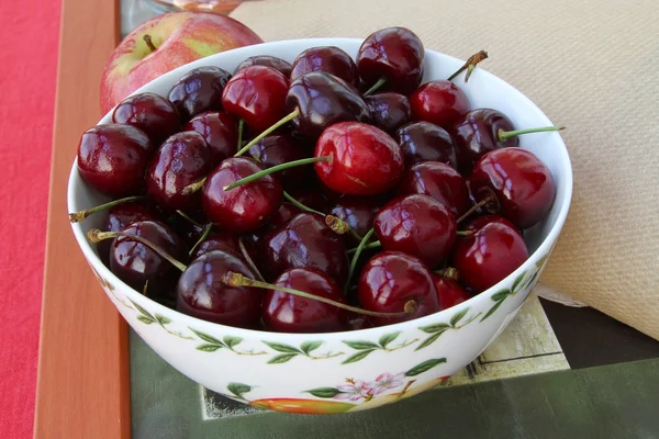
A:
[[[261,132],[286,115],[289,80],[270,67],[249,66],[238,71],[224,87],[224,110],[245,120],[249,128]]]

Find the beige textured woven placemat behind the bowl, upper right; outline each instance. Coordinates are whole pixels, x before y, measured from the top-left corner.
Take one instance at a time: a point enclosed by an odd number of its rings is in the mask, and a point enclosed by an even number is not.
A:
[[[265,41],[403,25],[514,85],[557,124],[574,168],[543,281],[659,339],[657,0],[265,0],[232,16]]]

